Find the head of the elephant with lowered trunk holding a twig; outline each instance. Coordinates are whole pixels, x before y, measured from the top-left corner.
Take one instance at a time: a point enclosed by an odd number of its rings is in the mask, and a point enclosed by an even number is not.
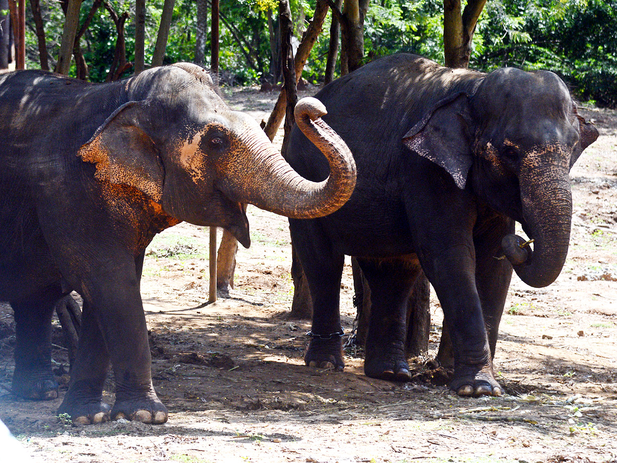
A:
[[[569,170],[597,136],[557,75],[507,68],[440,101],[405,144],[521,223],[533,251],[516,235],[505,236],[502,249],[523,282],[542,287],[568,253]]]

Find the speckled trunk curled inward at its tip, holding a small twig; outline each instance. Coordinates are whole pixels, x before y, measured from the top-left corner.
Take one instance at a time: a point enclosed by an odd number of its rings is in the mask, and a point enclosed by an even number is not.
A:
[[[560,171],[558,175],[555,169]],[[568,254],[572,218],[568,168],[536,165],[522,170],[525,232],[534,240],[534,249],[531,251],[523,238],[516,235],[505,236],[502,248],[524,283],[543,288],[557,279]]]

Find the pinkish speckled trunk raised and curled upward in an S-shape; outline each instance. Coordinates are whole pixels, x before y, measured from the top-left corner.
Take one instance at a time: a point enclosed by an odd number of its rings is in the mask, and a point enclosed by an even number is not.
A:
[[[263,131],[249,128],[244,143],[256,156],[255,164],[246,172],[227,175],[229,194],[239,202],[292,219],[314,219],[339,209],[354,191],[355,161],[347,144],[321,119],[325,114],[325,106],[315,98],[304,98],[296,105],[298,127],[328,159],[330,175],[326,180],[313,182],[301,177]]]

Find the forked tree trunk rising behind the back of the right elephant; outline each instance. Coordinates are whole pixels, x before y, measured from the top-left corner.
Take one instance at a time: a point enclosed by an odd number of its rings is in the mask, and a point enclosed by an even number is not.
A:
[[[466,68],[471,56],[471,40],[486,0],[444,0],[444,60],[447,67]]]

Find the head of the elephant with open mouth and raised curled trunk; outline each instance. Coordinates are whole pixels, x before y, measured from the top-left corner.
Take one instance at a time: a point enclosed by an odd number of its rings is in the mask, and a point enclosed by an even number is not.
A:
[[[310,219],[336,211],[354,190],[352,154],[321,120],[326,110],[317,99],[300,100],[295,111],[329,161],[329,177],[313,183],[291,169],[254,119],[226,106],[201,67],[155,68],[124,85],[128,102],[78,156],[96,163],[97,179],[141,190],[175,219],[228,228],[248,247],[243,204]]]

